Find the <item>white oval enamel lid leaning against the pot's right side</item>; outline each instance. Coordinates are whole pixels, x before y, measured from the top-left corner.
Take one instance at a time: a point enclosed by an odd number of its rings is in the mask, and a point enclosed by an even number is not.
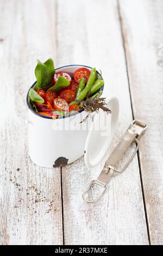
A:
[[[119,104],[116,97],[112,97],[108,103],[111,114],[100,111],[95,114],[89,128],[85,143],[85,164],[87,168],[96,167],[106,155],[117,127]]]

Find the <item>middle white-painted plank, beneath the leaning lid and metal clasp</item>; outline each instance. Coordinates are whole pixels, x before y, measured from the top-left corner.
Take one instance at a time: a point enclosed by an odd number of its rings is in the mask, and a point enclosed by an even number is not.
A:
[[[58,64],[96,66],[103,72],[104,95],[120,101],[113,149],[132,120],[117,3],[61,0],[57,15]],[[148,245],[137,158],[110,181],[102,200],[86,204],[82,193],[101,168],[88,170],[83,158],[62,168],[65,244]]]

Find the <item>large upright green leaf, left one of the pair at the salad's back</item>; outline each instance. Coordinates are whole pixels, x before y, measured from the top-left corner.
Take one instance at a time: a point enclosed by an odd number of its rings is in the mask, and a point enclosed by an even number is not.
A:
[[[47,66],[42,62],[40,62],[40,60],[37,60],[37,65],[35,68],[35,76],[37,79],[37,89],[45,88],[48,84],[48,70],[47,70]]]

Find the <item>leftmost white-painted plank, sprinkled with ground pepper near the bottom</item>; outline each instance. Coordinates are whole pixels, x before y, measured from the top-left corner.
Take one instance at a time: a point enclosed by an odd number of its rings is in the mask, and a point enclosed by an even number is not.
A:
[[[57,56],[55,4],[0,4],[1,245],[62,244],[60,168],[35,166],[27,144],[26,94],[35,81],[36,59]]]

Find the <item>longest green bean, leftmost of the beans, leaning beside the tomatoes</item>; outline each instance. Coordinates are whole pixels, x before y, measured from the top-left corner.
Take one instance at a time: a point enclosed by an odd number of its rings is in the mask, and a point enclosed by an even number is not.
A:
[[[83,89],[82,92],[80,92],[79,96],[77,97],[77,100],[80,101],[86,97],[86,94],[91,90],[93,84],[95,83],[95,79],[96,79],[96,68],[93,68],[91,69],[91,74],[87,81],[86,87]]]

